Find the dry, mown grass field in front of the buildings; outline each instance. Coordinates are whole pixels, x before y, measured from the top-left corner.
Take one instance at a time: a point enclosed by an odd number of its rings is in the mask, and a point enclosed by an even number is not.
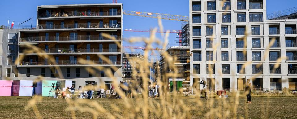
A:
[[[30,97],[0,97],[0,118],[35,118],[35,114],[32,108],[29,110],[24,110]],[[193,97],[181,97],[184,103],[191,110],[188,115],[189,118],[204,118],[207,113],[210,112],[212,108],[214,111],[221,112],[224,115],[225,108],[227,105],[234,104],[232,97],[226,99],[213,99],[212,101],[205,101],[202,99],[202,103],[205,104],[204,107],[197,108],[196,98]],[[76,100],[77,99],[72,99]],[[119,114],[123,115],[123,118],[130,118],[129,110],[125,110],[125,102],[123,99],[88,99],[88,101],[95,101],[102,105],[107,111],[112,115]],[[141,105],[144,103],[143,99],[129,99],[135,105]],[[159,98],[149,99],[149,101],[160,102]],[[224,102],[227,102],[225,104]],[[247,104],[245,97],[239,98],[239,105],[237,108],[236,118],[266,118],[266,119],[285,119],[285,118],[297,118],[297,97],[252,97],[252,103]],[[210,104],[211,103],[211,104]],[[211,106],[210,106],[211,105]],[[68,119],[71,118],[71,112],[67,111],[68,104],[66,99],[47,99],[43,98],[41,102],[37,103],[37,108],[42,116],[42,118],[59,118]],[[85,107],[86,105],[82,106]],[[114,110],[112,107],[118,107]],[[158,107],[156,105],[156,107]],[[132,106],[133,108],[133,106]],[[141,113],[139,113],[141,117]],[[155,114],[149,113],[149,118],[161,118]],[[81,118],[92,118],[89,112],[79,112],[75,111],[75,116],[77,119]],[[224,118],[215,117],[214,118]],[[235,115],[230,113],[227,118],[233,118]],[[99,113],[98,118],[108,118],[105,114]]]

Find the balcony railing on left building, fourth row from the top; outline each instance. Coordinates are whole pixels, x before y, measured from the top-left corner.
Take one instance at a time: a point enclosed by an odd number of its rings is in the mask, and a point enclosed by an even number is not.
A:
[[[26,50],[19,50],[19,53],[24,53]],[[120,48],[59,48],[59,49],[40,49],[45,53],[100,53],[100,52],[121,52]],[[28,52],[27,52],[28,53]],[[32,52],[36,53],[36,52]]]

